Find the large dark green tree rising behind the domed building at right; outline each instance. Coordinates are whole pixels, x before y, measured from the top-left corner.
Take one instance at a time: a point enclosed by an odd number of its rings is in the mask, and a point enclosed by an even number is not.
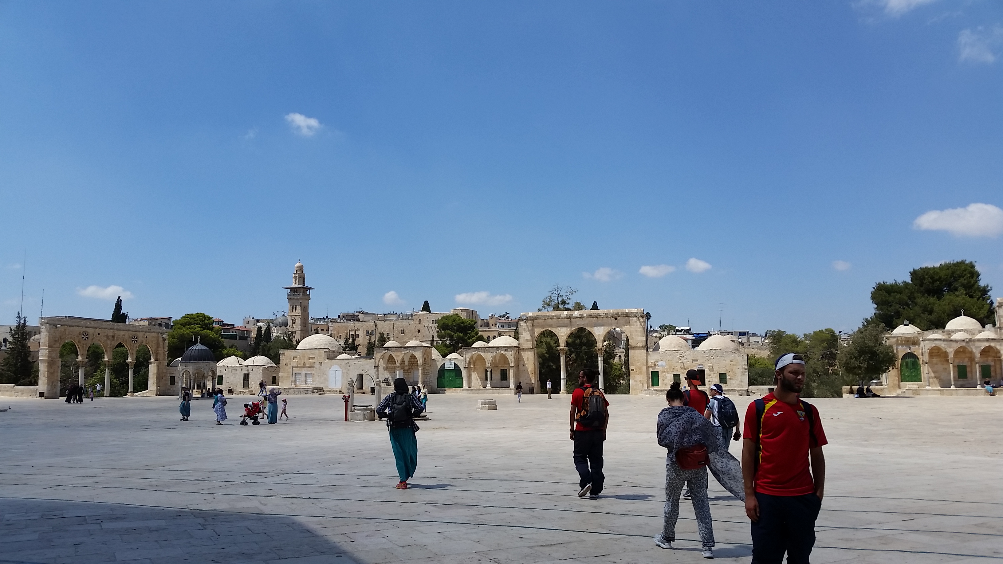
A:
[[[940,329],[964,311],[985,325],[992,322],[992,289],[981,282],[971,261],[913,269],[909,282],[875,284],[871,291],[873,319],[890,330],[905,320],[921,329]]]

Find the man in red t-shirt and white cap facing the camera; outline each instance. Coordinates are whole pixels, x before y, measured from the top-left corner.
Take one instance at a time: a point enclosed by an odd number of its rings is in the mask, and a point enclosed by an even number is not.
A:
[[[800,399],[804,359],[784,354],[775,368],[773,393],[745,411],[742,478],[752,564],[780,564],[784,552],[788,564],[808,564],[825,489],[821,448],[827,441],[818,411]]]

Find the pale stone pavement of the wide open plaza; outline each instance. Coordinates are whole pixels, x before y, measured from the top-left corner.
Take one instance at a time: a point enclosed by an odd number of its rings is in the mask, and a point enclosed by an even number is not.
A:
[[[216,426],[211,400],[0,398],[0,562],[702,562],[692,507],[661,528],[664,399],[612,396],[602,499],[580,500],[567,396],[429,396],[414,489],[382,422],[339,396],[290,421]],[[735,398],[740,410],[748,398]],[[815,399],[828,436],[812,562],[1003,562],[1003,397]],[[739,452],[732,443],[732,453]],[[741,503],[711,479],[718,560],[748,562]]]

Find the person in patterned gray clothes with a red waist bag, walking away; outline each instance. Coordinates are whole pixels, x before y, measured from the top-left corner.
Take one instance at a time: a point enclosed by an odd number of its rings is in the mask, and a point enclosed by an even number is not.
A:
[[[684,404],[679,382],[665,393],[669,406],[658,413],[658,444],[668,450],[665,460],[665,513],[662,533],[655,544],[672,548],[679,520],[679,495],[683,486],[692,494],[693,512],[703,545],[703,557],[713,558],[714,528],[707,499],[707,468],[728,492],[744,501],[741,465],[721,447],[720,434],[703,413]]]

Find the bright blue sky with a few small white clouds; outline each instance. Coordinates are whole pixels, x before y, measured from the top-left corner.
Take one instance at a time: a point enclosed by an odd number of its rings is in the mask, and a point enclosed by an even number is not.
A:
[[[0,322],[1003,296],[1001,68],[988,0],[0,2]]]

